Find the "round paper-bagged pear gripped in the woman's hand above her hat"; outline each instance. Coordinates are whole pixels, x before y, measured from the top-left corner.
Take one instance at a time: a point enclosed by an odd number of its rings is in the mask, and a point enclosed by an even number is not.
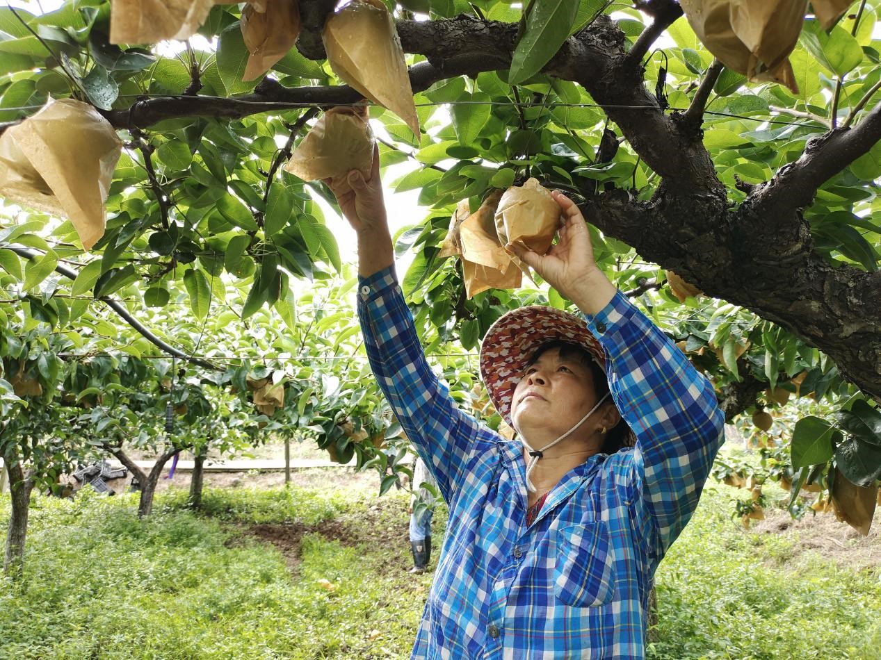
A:
[[[559,226],[560,208],[536,179],[509,187],[495,213],[496,231],[503,246],[512,243],[544,254],[551,249]]]

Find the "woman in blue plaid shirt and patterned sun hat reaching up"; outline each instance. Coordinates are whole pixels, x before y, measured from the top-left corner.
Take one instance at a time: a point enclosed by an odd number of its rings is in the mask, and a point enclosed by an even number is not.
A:
[[[559,242],[515,253],[584,318],[526,307],[486,334],[481,375],[519,436],[505,440],[458,410],[426,363],[378,152],[369,180],[348,182],[337,199],[358,233],[367,355],[449,507],[412,656],[643,657],[655,568],[722,444],[713,388],[597,268],[581,212],[555,192]],[[610,453],[622,429],[633,446]]]

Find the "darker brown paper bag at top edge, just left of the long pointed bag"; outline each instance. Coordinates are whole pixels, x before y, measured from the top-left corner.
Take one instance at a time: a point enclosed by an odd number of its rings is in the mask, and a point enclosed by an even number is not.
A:
[[[251,54],[241,79],[254,80],[287,55],[297,42],[300,36],[299,1],[248,3],[241,11],[241,36]]]

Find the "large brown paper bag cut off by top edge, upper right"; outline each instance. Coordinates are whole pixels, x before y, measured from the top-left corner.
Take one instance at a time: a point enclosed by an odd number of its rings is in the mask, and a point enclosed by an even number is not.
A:
[[[788,55],[808,0],[680,0],[694,33],[730,70],[798,92]]]

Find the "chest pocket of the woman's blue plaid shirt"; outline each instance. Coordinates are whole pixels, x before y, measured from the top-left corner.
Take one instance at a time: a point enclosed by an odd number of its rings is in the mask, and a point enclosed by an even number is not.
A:
[[[594,607],[615,593],[609,532],[603,523],[564,527],[557,532],[554,594],[566,605]]]

